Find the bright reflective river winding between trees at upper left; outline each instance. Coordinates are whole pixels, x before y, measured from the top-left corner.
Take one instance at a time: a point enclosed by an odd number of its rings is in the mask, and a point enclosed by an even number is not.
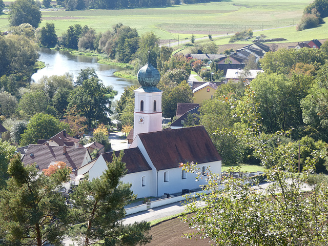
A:
[[[57,51],[46,48],[39,49],[39,60],[46,64],[46,67],[38,70],[31,77],[32,81],[38,81],[43,76],[63,75],[67,72],[77,77],[79,71],[84,68],[94,68],[98,77],[103,80],[105,86],[113,86],[118,91],[115,100],[120,98],[124,87],[137,85],[136,79],[126,79],[114,76],[114,72],[124,70],[123,68],[97,63],[97,58],[92,56],[71,55],[66,51]]]

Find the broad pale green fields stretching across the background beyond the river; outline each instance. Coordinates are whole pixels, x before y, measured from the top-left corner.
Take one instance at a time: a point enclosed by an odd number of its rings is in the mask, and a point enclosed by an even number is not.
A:
[[[117,23],[136,28],[139,34],[154,31],[160,39],[189,38],[231,34],[236,31],[253,29],[254,35],[264,34],[268,38],[284,37],[288,42],[328,37],[328,24],[319,28],[297,32],[295,27],[303,9],[311,0],[260,1],[227,0],[223,2],[195,5],[178,5],[166,8],[85,10],[85,11],[44,11],[43,21],[55,24],[60,36],[70,25],[88,25],[97,32],[104,32]],[[326,19],[328,22],[328,19]],[[9,27],[7,14],[0,15],[0,30]],[[277,29],[277,27],[279,27]],[[273,30],[265,30],[271,29]],[[259,30],[259,31],[256,31]],[[262,31],[263,30],[263,31]],[[229,38],[214,38],[219,45],[227,44]],[[206,40],[208,42],[208,40]],[[249,42],[244,42],[249,43]]]

